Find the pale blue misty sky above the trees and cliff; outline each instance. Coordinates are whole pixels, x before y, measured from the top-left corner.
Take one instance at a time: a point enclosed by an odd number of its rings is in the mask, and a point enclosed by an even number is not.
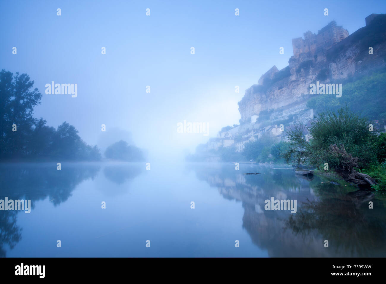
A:
[[[208,137],[177,133],[177,123],[208,122],[210,136],[238,124],[245,89],[288,65],[292,38],[332,20],[352,34],[385,10],[386,1],[2,0],[0,68],[35,81],[35,116],[49,126],[67,121],[92,145],[109,129],[117,139],[130,131],[152,155],[180,155]],[[77,83],[78,97],[46,95],[51,81]]]

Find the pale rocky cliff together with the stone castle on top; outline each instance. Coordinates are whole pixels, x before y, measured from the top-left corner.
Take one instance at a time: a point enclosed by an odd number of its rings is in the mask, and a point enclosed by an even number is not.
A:
[[[286,132],[281,129],[291,129],[295,121],[310,125],[314,117],[307,105],[311,83],[342,82],[355,75],[385,70],[386,14],[371,14],[365,22],[365,27],[350,36],[332,21],[318,34],[308,31],[304,39],[292,39],[294,56],[288,66],[281,70],[273,66],[259,78],[258,85],[245,90],[238,103],[240,125],[210,138],[201,148],[203,158],[207,162],[220,161],[220,148],[243,152],[247,143],[263,135],[285,141]],[[370,46],[374,54],[369,53]]]

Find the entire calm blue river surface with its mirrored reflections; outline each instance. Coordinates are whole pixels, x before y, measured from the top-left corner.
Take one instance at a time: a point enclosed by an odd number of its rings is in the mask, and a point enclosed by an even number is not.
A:
[[[0,256],[385,256],[386,195],[327,181],[244,164],[1,164],[0,199],[32,209],[0,211]],[[264,210],[271,197],[297,212]]]

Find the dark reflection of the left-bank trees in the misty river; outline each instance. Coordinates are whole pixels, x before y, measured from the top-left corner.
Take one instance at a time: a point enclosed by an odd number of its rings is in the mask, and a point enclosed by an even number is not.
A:
[[[111,194],[129,189],[126,182],[141,174],[143,164],[135,163],[55,163],[0,164],[0,199],[30,199],[32,210],[36,201],[47,199],[55,207],[68,200],[71,192],[83,181],[94,180],[101,168],[111,183],[95,188]],[[124,186],[122,186],[124,184]],[[115,188],[113,185],[116,185]],[[119,185],[119,186],[118,186]],[[0,211],[0,257],[6,256],[5,245],[11,249],[21,240],[17,214],[24,211]]]

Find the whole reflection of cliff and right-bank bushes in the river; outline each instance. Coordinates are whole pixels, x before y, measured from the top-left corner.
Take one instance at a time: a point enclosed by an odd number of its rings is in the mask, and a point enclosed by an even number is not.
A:
[[[380,257],[386,252],[386,206],[380,193],[330,184],[318,175],[309,180],[290,168],[188,167],[198,179],[217,187],[224,198],[242,201],[243,228],[270,257]],[[262,174],[242,174],[247,172]],[[264,210],[264,201],[271,197],[296,199],[297,213]],[[369,209],[369,201],[374,202],[374,209]]]

